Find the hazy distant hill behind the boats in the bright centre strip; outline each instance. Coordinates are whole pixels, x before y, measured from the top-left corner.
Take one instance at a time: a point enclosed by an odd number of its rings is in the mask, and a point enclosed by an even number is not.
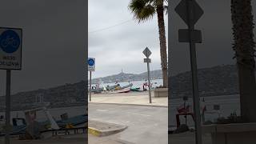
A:
[[[150,71],[150,77],[152,79],[161,79],[162,78],[162,70],[153,70]],[[143,81],[147,79],[147,72],[142,74],[114,74],[103,78],[94,78],[92,79],[92,83],[96,84],[98,82],[104,83],[112,83],[112,82],[128,82],[128,81]]]

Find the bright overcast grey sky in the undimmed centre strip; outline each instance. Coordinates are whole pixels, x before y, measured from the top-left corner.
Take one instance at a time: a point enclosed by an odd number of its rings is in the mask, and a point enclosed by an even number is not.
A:
[[[161,69],[157,18],[138,24],[128,9],[129,2],[89,0],[89,57],[96,58],[93,78],[118,74],[121,70],[132,74],[145,72],[142,51],[146,46],[152,51],[150,70]],[[125,23],[115,26],[122,22]],[[110,26],[113,27],[102,30]]]

